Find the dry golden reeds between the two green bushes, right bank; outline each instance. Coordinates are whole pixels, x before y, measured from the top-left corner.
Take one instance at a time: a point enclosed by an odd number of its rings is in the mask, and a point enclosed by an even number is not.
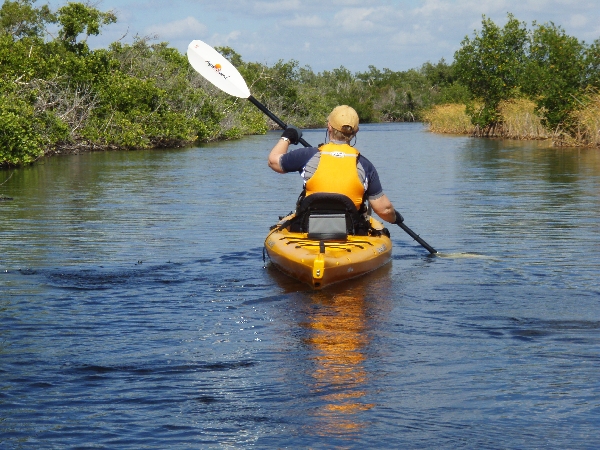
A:
[[[525,98],[500,102],[500,135],[508,139],[548,139],[550,133],[542,125],[543,117],[536,113],[535,107],[535,102]]]

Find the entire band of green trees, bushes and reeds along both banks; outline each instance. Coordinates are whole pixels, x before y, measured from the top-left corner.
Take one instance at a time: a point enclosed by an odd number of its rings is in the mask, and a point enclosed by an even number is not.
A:
[[[243,99],[213,87],[168,43],[136,36],[90,49],[112,11],[36,0],[0,7],[0,167],[45,155],[182,147],[277,128]],[[53,30],[52,33],[48,30]],[[439,133],[600,146],[600,39],[588,45],[554,24],[483,17],[454,61],[395,72],[343,66],[315,73],[295,60],[247,62],[217,48],[253,95],[302,128],[323,127],[338,104],[363,123],[422,121]]]

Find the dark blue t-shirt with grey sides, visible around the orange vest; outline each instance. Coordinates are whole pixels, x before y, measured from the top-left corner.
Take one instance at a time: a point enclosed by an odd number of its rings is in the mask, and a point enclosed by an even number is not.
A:
[[[321,154],[318,148],[304,147],[282,155],[279,159],[279,165],[284,172],[299,172],[306,184],[317,170],[320,157]],[[376,200],[383,196],[379,175],[371,161],[363,155],[359,155],[356,169],[367,193],[367,199]]]

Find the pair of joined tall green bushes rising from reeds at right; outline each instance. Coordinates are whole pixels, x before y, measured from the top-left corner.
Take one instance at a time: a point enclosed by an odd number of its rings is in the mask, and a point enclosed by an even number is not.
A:
[[[528,30],[511,14],[503,28],[485,17],[482,25],[454,61],[457,80],[483,101],[481,110],[468,108],[473,123],[494,127],[500,102],[524,97],[536,102],[546,127],[570,129],[577,97],[600,84],[600,42],[588,46],[553,23]]]

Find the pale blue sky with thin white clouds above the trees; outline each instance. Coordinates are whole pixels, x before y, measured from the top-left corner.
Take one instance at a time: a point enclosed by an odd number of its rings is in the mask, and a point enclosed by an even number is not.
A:
[[[38,0],[53,9],[66,2]],[[90,0],[118,22],[92,48],[155,37],[185,52],[200,39],[229,46],[244,61],[296,60],[315,72],[404,71],[444,58],[481,29],[482,15],[503,26],[507,14],[532,28],[553,22],[570,36],[600,39],[600,0]]]

